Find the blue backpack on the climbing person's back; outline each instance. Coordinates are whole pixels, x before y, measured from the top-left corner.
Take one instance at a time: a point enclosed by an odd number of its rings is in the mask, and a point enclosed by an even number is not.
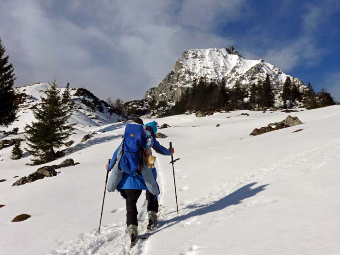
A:
[[[143,147],[145,147],[144,126],[126,124],[124,139],[121,143],[118,168],[128,174],[143,170]],[[119,151],[120,151],[119,150]]]

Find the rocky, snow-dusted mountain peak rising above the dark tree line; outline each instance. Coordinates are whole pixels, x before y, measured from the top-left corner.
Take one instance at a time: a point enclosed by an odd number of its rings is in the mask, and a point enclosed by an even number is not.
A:
[[[174,68],[157,86],[150,88],[145,99],[157,101],[179,100],[183,88],[191,86],[194,78],[206,76],[209,80],[221,81],[224,77],[226,85],[232,87],[236,81],[242,85],[252,85],[263,81],[269,74],[272,85],[281,89],[287,74],[263,59],[249,60],[229,46],[226,49],[195,49],[182,54]],[[302,87],[303,83],[297,78],[289,76],[295,85]]]

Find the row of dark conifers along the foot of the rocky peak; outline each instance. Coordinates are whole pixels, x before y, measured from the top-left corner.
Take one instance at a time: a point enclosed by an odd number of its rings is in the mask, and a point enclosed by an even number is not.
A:
[[[275,102],[278,105],[275,105]],[[292,108],[299,102],[302,102],[307,109],[335,104],[326,90],[322,89],[319,93],[315,93],[310,83],[300,90],[289,76],[280,94],[275,91],[268,74],[264,81],[259,81],[257,84],[241,85],[236,81],[232,87],[226,87],[224,78],[219,83],[216,80],[209,81],[206,77],[200,77],[198,80],[193,80],[192,85],[182,93],[179,101],[167,114],[183,114],[186,111],[211,112],[222,109]]]

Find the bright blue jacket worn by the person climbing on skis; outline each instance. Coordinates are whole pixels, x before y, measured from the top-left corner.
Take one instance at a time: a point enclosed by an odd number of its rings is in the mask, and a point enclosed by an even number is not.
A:
[[[156,140],[156,138],[153,138],[153,147],[152,148],[155,150],[156,153],[160,153],[162,155],[168,155],[168,156],[171,155],[171,152],[167,148],[163,147]],[[115,163],[115,160],[117,158],[117,153],[118,153],[118,149],[113,154],[108,169],[113,168],[113,164]],[[157,179],[157,172],[156,172],[155,168],[153,168],[153,177],[154,177],[155,180]],[[145,185],[145,182],[144,182],[142,175],[137,174],[137,173],[134,173],[134,174],[131,174],[131,175],[124,173],[123,178],[119,182],[117,189],[118,190],[119,189],[144,189],[144,190],[148,190],[148,188]]]

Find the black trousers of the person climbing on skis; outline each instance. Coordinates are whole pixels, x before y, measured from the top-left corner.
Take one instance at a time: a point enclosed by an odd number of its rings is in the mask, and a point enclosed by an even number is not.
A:
[[[137,200],[142,193],[140,189],[120,189],[126,196],[126,224],[138,226],[137,220]],[[145,192],[146,200],[148,201],[148,211],[158,212],[158,199],[147,190]]]

